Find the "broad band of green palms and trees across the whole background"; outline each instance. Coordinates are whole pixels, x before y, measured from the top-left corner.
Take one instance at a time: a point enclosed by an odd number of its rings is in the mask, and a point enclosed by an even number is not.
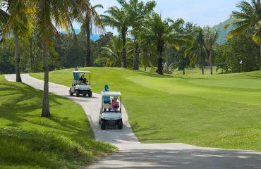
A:
[[[258,1],[251,3],[238,4],[238,7],[243,9],[242,12],[233,12],[231,19],[211,29],[210,27],[201,28],[193,23],[185,23],[182,19],[166,18],[164,20],[160,15],[154,13],[153,8],[156,6],[154,1],[147,3],[138,0],[119,1],[120,7],[108,8],[106,15],[101,15],[101,19],[97,18],[95,8],[102,6],[88,4],[89,8],[86,10],[90,15],[83,13],[83,18],[80,18],[79,21],[83,23],[83,29],[78,35],[59,34],[51,37],[54,45],[49,46],[47,52],[48,67],[49,70],[85,65],[123,66],[134,69],[143,67],[145,70],[147,67],[157,67],[160,74],[172,73],[177,68],[184,70],[185,73],[186,68],[195,66],[201,68],[210,66],[212,73],[212,65],[217,66],[223,73],[259,70],[260,56],[258,55],[260,55],[260,51],[252,40],[253,35],[255,41],[258,39],[255,36],[258,32],[257,23],[249,23],[248,20],[243,23],[238,21],[238,19],[242,19],[238,18],[239,16],[252,17],[250,12],[255,12],[253,9],[259,8],[255,6]],[[248,6],[249,13],[244,11],[246,10],[243,8],[244,5]],[[88,19],[91,20],[90,23]],[[155,26],[152,25],[153,23]],[[252,24],[252,28],[246,26],[240,28],[242,24],[247,23]],[[3,27],[4,20],[1,21],[1,24]],[[90,33],[102,29],[102,24],[116,28],[119,35],[98,31],[103,33],[100,38],[97,41],[90,40],[88,38]],[[227,29],[224,28],[226,25]],[[197,37],[198,30],[202,30],[201,37]],[[217,32],[217,30],[219,31]],[[241,31],[246,33],[240,35]],[[73,31],[71,32],[73,33]],[[231,35],[235,37],[226,42],[228,32],[229,37],[232,37]],[[40,36],[41,32],[37,26],[30,34],[20,36],[19,54],[22,72],[42,71],[43,49]],[[14,73],[16,70],[15,39],[12,34],[8,34],[7,37],[0,49],[0,73]],[[199,38],[201,38],[201,44],[197,44]],[[201,49],[205,51],[198,48],[198,51],[201,51],[198,52],[195,48],[197,45],[201,45]],[[242,66],[239,64],[241,61],[243,61]]]

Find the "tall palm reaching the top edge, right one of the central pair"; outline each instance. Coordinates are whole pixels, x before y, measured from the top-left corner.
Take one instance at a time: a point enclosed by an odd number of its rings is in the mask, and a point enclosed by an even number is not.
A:
[[[133,35],[134,41],[135,41],[135,50],[134,50],[134,58],[133,58],[133,69],[138,70],[139,69],[139,34],[141,27],[145,23],[145,17],[147,15],[150,15],[150,13],[153,11],[153,8],[156,6],[155,1],[148,1],[146,4],[143,3],[143,1],[138,0],[130,0],[129,1],[129,15],[130,18],[130,25],[133,28],[131,30],[131,34]]]

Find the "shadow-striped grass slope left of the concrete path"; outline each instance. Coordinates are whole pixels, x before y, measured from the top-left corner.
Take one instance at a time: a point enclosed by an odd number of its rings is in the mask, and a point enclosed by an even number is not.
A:
[[[41,118],[42,92],[0,75],[0,168],[78,168],[116,151],[97,142],[83,109],[50,95],[51,118]]]

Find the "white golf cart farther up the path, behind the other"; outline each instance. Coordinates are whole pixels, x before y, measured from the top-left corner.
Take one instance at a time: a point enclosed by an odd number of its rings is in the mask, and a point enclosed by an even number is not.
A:
[[[89,75],[89,81],[87,81],[86,79],[80,80],[80,77],[86,74]],[[73,94],[75,94],[77,97],[79,97],[80,94],[83,94],[83,96],[87,96],[88,94],[89,97],[92,97],[89,71],[78,71],[78,70],[73,71],[73,82],[72,82],[72,86],[69,89],[69,94],[70,96],[73,96]]]

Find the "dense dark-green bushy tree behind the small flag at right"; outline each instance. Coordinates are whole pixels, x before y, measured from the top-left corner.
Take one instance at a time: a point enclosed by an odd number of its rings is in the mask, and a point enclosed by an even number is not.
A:
[[[252,40],[251,30],[216,47],[217,68],[224,73],[260,70],[260,49]],[[240,62],[242,61],[242,67]]]

